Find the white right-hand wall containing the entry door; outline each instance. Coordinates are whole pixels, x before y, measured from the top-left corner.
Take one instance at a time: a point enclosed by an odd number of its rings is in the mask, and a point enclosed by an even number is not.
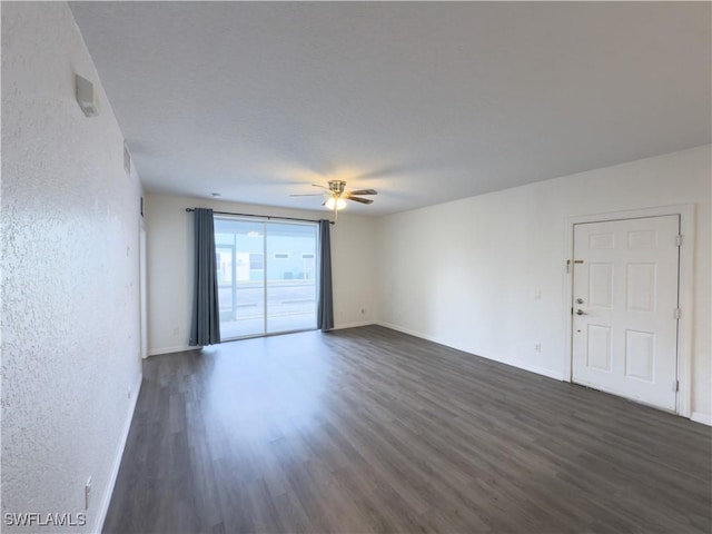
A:
[[[706,146],[383,217],[379,323],[563,378],[566,219],[694,204],[692,411],[709,421],[710,177]]]

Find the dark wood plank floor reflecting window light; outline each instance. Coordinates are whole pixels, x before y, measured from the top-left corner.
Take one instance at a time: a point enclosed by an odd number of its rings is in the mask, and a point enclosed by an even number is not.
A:
[[[105,532],[712,531],[709,427],[385,328],[144,373]]]

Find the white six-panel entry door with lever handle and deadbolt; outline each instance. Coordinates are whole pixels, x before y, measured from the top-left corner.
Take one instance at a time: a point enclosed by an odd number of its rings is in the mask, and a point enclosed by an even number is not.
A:
[[[679,216],[574,226],[572,379],[674,411]]]

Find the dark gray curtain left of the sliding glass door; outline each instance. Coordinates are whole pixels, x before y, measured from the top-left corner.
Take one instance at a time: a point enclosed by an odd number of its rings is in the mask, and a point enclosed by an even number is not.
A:
[[[196,208],[192,215],[195,217],[196,273],[190,345],[204,346],[220,343],[215,225],[211,209]]]

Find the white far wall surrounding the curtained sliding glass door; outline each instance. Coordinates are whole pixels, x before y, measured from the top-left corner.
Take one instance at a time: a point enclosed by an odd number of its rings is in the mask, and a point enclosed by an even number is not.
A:
[[[326,211],[289,210],[219,200],[148,195],[144,214],[148,231],[148,353],[188,347],[192,305],[192,214],[217,211],[326,218]],[[334,320],[337,328],[375,322],[375,219],[342,211],[332,226]],[[365,313],[362,314],[360,309]]]

